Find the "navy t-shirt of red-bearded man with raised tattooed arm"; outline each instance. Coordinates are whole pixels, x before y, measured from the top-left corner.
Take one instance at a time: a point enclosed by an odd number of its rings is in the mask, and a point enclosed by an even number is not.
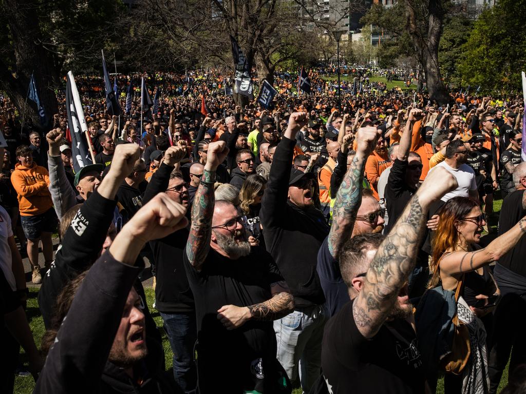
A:
[[[329,316],[334,316],[343,305],[349,302],[349,292],[341,277],[340,264],[329,252],[328,238],[327,236],[321,243],[316,271],[325,295],[327,313]]]

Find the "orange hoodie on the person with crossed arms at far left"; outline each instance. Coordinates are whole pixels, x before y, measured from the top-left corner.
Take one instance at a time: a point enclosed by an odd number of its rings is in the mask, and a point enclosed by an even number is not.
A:
[[[17,163],[11,174],[11,183],[18,194],[18,209],[22,216],[40,215],[53,206],[47,189],[49,173],[44,167],[33,163],[31,168],[26,168]]]

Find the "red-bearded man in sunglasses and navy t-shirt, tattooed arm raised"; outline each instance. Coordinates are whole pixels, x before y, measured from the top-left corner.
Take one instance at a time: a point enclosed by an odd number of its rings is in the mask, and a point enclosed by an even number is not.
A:
[[[325,294],[327,312],[335,315],[349,302],[347,286],[341,277],[338,253],[351,236],[372,233],[383,224],[380,204],[370,193],[362,193],[363,170],[380,134],[376,127],[362,127],[357,133],[357,152],[343,177],[332,210],[332,226],[318,252],[317,271]]]

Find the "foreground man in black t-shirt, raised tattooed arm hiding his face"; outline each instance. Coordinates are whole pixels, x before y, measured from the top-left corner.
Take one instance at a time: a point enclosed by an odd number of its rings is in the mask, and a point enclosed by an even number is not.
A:
[[[323,334],[323,377],[330,393],[424,392],[406,283],[429,206],[456,187],[446,169],[432,171],[383,241],[364,234],[342,248],[340,269],[351,301]]]

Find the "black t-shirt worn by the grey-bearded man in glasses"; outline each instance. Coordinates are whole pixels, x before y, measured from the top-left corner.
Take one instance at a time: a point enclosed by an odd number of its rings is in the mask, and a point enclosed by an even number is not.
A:
[[[271,298],[270,284],[284,280],[272,256],[252,247],[248,256],[231,260],[210,249],[197,272],[185,249],[184,265],[196,308],[201,392],[216,392],[218,384],[229,392],[272,392],[277,347],[272,322],[250,320],[229,331],[217,319],[222,306],[244,307]]]

